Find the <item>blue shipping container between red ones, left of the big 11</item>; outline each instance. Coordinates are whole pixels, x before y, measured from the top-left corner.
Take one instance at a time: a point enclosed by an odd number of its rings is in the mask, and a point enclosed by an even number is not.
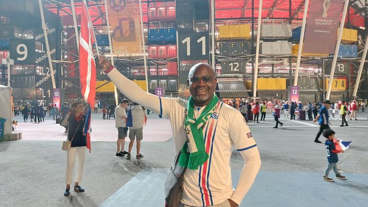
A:
[[[175,28],[150,29],[148,31],[148,42],[150,44],[157,43],[175,43]]]

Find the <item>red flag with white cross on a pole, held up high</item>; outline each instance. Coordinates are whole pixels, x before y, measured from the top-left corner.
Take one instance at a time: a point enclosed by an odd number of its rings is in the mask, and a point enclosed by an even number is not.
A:
[[[96,97],[96,62],[92,50],[95,42],[95,32],[88,8],[83,4],[79,39],[79,74],[82,95],[91,109],[95,107]]]

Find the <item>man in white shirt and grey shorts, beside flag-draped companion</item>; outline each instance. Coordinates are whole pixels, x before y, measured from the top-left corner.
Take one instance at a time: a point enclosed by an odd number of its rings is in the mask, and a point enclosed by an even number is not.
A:
[[[124,99],[121,101],[120,105],[115,109],[115,127],[118,128],[118,141],[117,141],[117,153],[116,156],[123,157],[128,154],[124,150],[125,137],[128,135],[128,127],[126,127],[127,114],[125,112],[129,101]]]

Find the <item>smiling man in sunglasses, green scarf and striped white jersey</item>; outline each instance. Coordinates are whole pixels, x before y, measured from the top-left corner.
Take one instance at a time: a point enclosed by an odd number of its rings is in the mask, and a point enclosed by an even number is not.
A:
[[[250,189],[261,165],[257,144],[240,111],[219,101],[211,65],[198,63],[188,76],[191,98],[160,98],[142,90],[114,68],[106,58],[100,64],[111,81],[134,102],[170,120],[183,177],[181,206],[238,206]],[[244,158],[233,190],[230,157],[232,144]]]

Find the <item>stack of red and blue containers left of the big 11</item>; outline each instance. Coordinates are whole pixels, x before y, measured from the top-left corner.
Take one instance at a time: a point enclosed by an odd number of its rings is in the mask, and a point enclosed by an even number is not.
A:
[[[148,4],[148,58],[156,64],[149,66],[150,75],[153,77],[178,75],[175,61],[177,56],[175,12],[174,2]],[[165,77],[160,77],[159,80],[151,78],[150,90],[154,91],[157,86],[164,87],[165,91],[176,92],[177,81],[170,81]]]

